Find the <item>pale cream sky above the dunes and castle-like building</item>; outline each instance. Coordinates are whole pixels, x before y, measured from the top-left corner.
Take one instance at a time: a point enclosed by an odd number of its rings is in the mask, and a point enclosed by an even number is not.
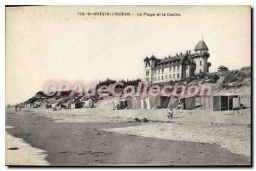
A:
[[[78,12],[131,16],[79,16]],[[138,17],[137,13],[178,13]],[[248,6],[8,7],[6,104],[27,100],[49,81],[143,78],[143,59],[193,51],[203,36],[210,71],[251,65]]]

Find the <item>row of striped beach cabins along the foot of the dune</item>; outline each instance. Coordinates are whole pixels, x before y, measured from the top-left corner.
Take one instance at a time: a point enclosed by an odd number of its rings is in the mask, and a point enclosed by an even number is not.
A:
[[[159,109],[177,108],[182,106],[184,110],[211,110],[230,111],[247,108],[251,105],[251,95],[216,95],[216,96],[195,96],[186,98],[148,96],[121,98],[115,101],[116,109]]]

